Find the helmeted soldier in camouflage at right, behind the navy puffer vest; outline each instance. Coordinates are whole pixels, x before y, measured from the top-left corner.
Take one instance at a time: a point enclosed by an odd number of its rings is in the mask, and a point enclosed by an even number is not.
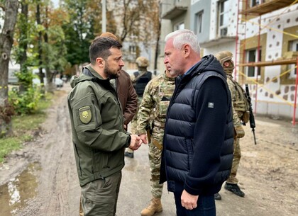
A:
[[[236,81],[233,80],[233,69],[234,64],[232,61],[233,54],[228,51],[218,52],[216,55],[214,55],[216,59],[219,60],[221,63],[221,66],[223,67],[224,72],[226,72],[227,76],[227,83],[228,83],[228,89],[231,91],[232,96],[232,106],[233,106],[233,125],[234,125],[234,153],[233,153],[233,164],[231,168],[231,174],[228,177],[228,180],[226,181],[226,184],[224,188],[228,191],[231,191],[235,193],[238,196],[244,197],[245,193],[241,191],[241,189],[238,186],[238,179],[236,178],[239,162],[241,159],[241,149],[239,144],[239,139],[244,137],[244,130],[241,126],[241,118],[243,118],[243,115],[246,115],[245,110],[243,110],[243,103],[244,101],[241,101],[241,96],[239,95],[237,91],[237,86],[240,86],[239,84],[236,84]],[[214,195],[214,198],[216,200],[221,200],[221,195],[219,193],[216,193]]]

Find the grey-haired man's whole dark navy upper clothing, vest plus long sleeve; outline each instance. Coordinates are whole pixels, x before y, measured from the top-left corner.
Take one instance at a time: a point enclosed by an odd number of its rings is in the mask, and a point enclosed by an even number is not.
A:
[[[213,55],[176,79],[167,110],[160,182],[192,195],[217,193],[233,161],[231,93]]]

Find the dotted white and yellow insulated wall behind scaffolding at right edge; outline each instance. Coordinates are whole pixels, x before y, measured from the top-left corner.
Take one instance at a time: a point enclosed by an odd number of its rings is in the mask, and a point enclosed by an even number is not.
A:
[[[281,8],[250,19],[246,23],[245,50],[258,46],[259,21],[262,47],[262,61],[272,61],[285,58],[289,40],[298,40],[298,5]],[[284,74],[288,67],[285,65],[267,66],[261,68],[258,80],[250,82],[253,100],[257,98],[257,113],[279,115],[291,118],[294,113],[294,77]],[[284,75],[282,75],[284,74]],[[253,84],[258,81],[258,89]]]

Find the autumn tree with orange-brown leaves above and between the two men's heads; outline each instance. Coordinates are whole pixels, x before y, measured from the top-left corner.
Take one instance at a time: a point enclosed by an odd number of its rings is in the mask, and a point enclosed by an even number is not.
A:
[[[122,42],[130,42],[137,47],[136,57],[140,55],[142,43],[146,49],[155,45],[155,69],[157,68],[160,37],[160,1],[158,0],[115,0],[111,4],[113,17],[118,23],[117,35]],[[130,53],[126,53],[125,57]],[[136,58],[126,60],[134,62]]]

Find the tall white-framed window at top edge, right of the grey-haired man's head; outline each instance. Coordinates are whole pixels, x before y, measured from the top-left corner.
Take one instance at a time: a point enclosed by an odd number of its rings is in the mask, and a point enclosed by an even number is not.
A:
[[[228,34],[228,0],[219,1],[219,35]]]

